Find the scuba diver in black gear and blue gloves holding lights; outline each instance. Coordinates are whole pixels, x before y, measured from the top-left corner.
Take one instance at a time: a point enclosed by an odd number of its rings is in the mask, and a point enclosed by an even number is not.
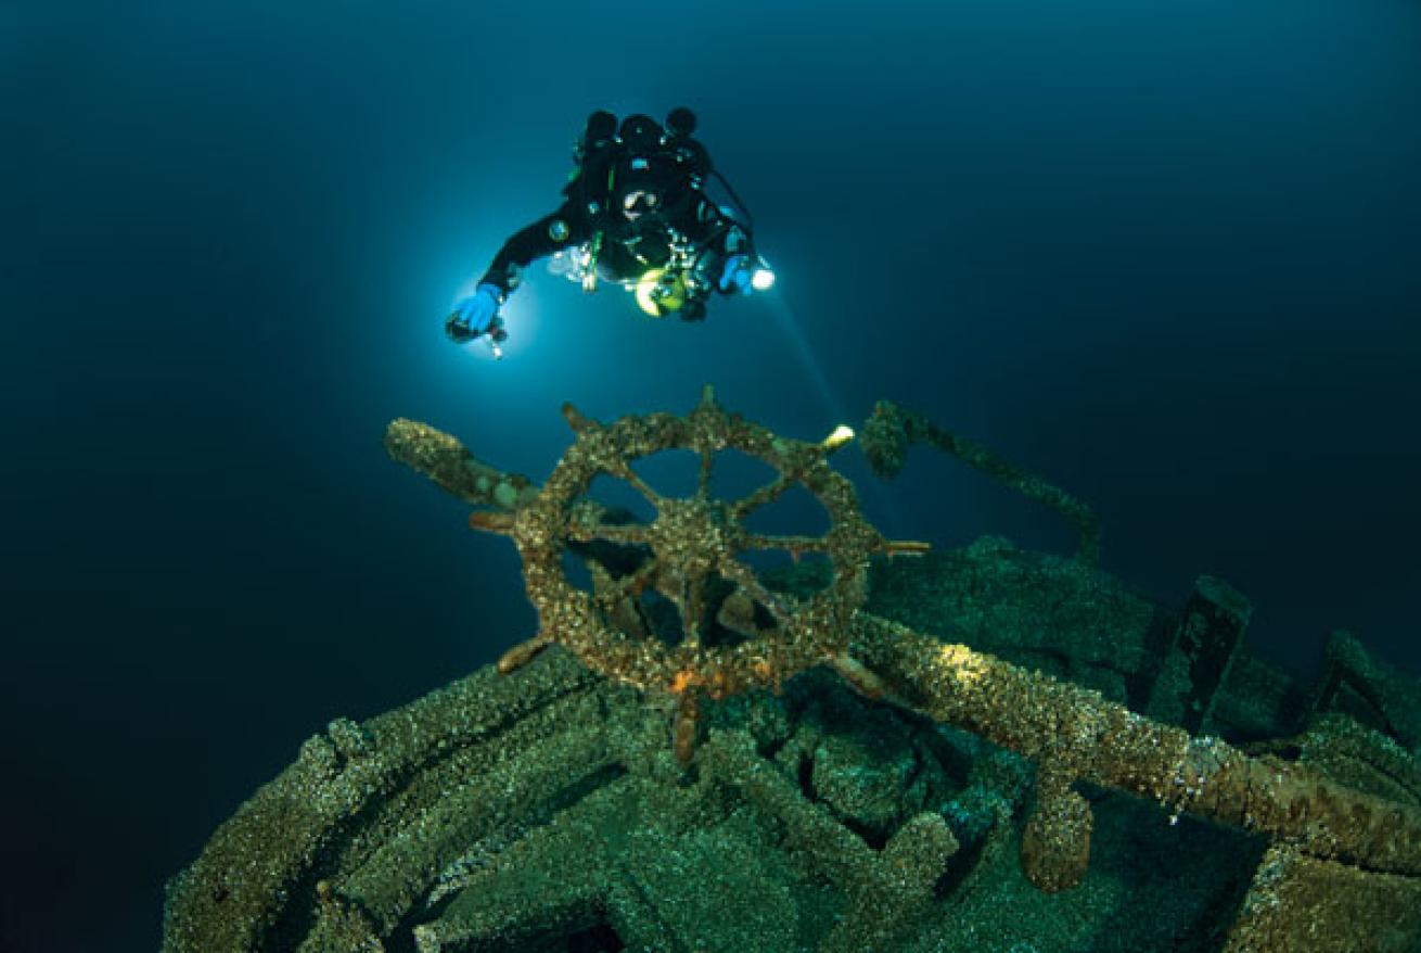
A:
[[[604,110],[587,118],[573,149],[576,168],[563,205],[516,232],[493,257],[477,290],[445,320],[456,343],[487,336],[496,357],[507,337],[499,309],[517,289],[523,269],[551,256],[550,269],[597,290],[617,282],[654,317],[702,320],[706,299],[766,290],[773,272],[755,252],[750,215],[730,183],[715,172],[705,147],[691,138],[696,118],[676,108],[665,125],[630,115],[618,127]],[[705,193],[715,176],[736,215]]]

